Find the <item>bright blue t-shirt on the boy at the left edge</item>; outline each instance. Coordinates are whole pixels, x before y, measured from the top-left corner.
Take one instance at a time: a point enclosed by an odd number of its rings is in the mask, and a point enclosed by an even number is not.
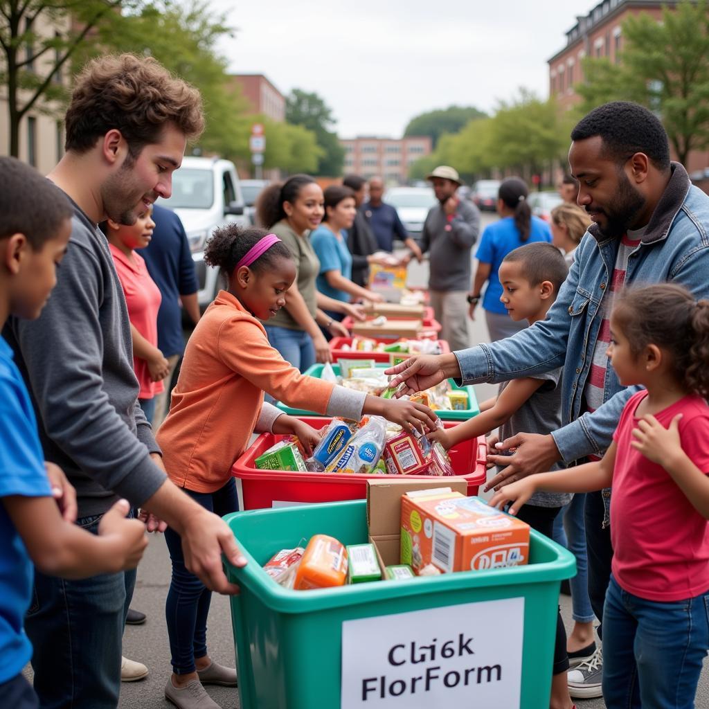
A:
[[[10,346],[0,337],[0,498],[50,496],[37,420]],[[42,524],[42,520],[37,520]],[[0,504],[0,684],[32,657],[23,619],[34,569],[24,542]]]

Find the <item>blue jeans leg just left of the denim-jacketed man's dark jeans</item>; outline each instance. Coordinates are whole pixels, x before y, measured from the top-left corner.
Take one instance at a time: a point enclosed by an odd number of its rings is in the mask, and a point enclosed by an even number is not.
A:
[[[576,623],[591,623],[596,615],[588,598],[588,559],[586,558],[586,529],[584,506],[586,493],[576,493],[554,520],[554,542],[569,549],[576,557],[576,576],[570,581],[571,617]]]

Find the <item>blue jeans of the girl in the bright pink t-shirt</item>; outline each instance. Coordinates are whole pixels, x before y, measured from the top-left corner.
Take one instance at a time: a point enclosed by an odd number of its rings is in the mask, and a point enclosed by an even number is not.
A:
[[[709,649],[709,593],[646,601],[623,591],[611,576],[603,627],[608,709],[693,709]]]

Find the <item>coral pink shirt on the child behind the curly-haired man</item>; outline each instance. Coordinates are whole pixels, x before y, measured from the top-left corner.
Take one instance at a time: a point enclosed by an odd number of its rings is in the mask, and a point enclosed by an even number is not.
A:
[[[118,280],[123,287],[125,304],[128,306],[130,324],[150,342],[157,347],[157,311],[160,309],[162,296],[150,278],[145,266],[145,259],[137,252],[129,259],[120,249],[109,244],[113,264],[116,265]],[[152,381],[150,370],[145,359],[133,357],[133,370],[140,384],[139,398],[152,398],[163,391],[162,381]]]

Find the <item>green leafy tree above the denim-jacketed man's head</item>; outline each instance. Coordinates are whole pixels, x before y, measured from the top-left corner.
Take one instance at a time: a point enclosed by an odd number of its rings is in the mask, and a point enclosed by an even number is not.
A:
[[[606,101],[637,101],[657,113],[679,162],[709,146],[709,9],[705,0],[629,16],[620,63],[588,57],[576,91],[590,111]]]

